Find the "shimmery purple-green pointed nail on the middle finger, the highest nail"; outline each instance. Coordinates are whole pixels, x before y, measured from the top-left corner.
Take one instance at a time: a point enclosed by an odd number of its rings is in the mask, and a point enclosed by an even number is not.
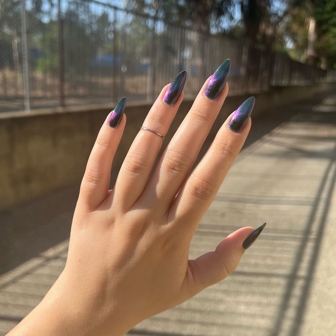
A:
[[[216,99],[218,95],[222,92],[230,72],[230,66],[231,61],[227,59],[213,73],[204,90],[204,95],[206,97],[210,99]]]

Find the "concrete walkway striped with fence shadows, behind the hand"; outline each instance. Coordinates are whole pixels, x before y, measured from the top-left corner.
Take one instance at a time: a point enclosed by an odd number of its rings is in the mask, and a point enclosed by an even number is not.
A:
[[[253,119],[193,238],[190,258],[267,225],[222,282],[135,326],[132,336],[336,335],[336,95]],[[65,265],[78,185],[0,213],[0,335]]]

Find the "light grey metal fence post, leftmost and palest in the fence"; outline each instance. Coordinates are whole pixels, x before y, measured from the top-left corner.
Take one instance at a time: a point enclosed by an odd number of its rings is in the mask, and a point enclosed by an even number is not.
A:
[[[21,40],[22,40],[22,76],[25,110],[30,110],[29,72],[28,72],[28,47],[26,26],[26,0],[21,0]]]

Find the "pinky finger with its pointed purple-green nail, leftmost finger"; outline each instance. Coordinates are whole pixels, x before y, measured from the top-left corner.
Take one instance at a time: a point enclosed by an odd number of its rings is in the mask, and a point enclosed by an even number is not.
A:
[[[126,124],[125,105],[124,97],[108,115],[100,128],[87,162],[79,202],[82,202],[88,211],[95,210],[108,196],[112,161]]]

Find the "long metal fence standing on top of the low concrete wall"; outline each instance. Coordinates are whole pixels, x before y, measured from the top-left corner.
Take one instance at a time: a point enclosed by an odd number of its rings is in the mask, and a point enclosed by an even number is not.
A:
[[[184,91],[195,95],[226,58],[232,61],[230,94],[309,85],[327,76],[285,55],[98,1],[42,4],[40,11],[28,0],[7,0],[0,16],[0,112],[121,96],[152,100],[184,69]]]

